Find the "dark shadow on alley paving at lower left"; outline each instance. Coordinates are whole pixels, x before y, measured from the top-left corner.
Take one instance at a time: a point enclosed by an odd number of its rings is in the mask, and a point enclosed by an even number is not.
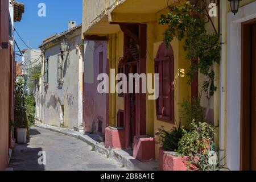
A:
[[[16,144],[13,152],[13,156],[10,160],[9,167],[14,171],[45,171],[44,165],[38,163],[38,152],[42,151],[42,148],[29,148],[30,138],[39,135],[39,131],[36,129],[30,130],[30,137],[27,138],[26,144]]]

